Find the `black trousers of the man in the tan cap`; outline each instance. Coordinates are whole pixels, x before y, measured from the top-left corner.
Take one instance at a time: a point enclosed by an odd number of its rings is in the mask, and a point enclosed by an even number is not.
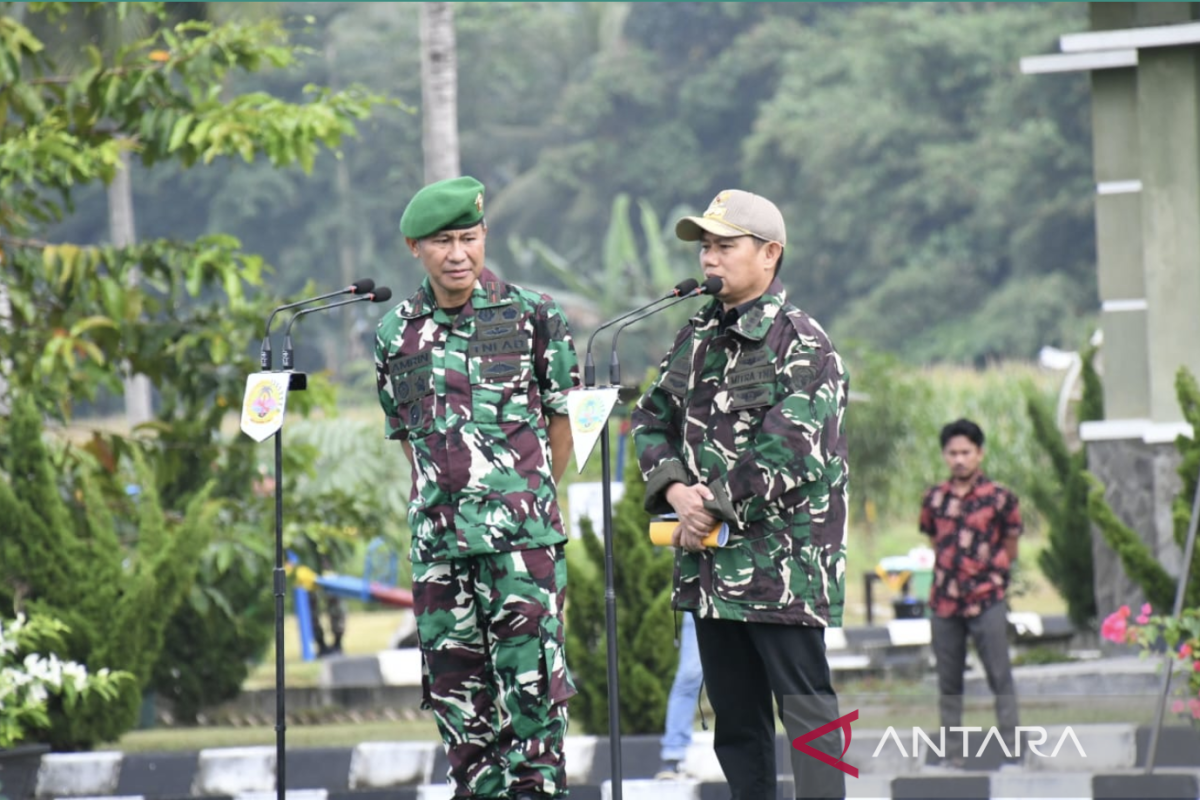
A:
[[[697,619],[704,685],[716,721],[713,748],[733,800],[775,800],[774,703],[788,741],[838,718],[824,630]],[[841,757],[840,730],[808,742]],[[845,798],[846,776],[790,748],[797,798]]]

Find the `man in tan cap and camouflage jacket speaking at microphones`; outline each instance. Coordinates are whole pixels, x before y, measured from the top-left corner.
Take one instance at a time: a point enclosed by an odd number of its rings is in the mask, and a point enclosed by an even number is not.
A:
[[[845,774],[810,754],[840,763],[838,730],[803,738],[839,718],[824,628],[841,625],[846,590],[846,369],[787,301],[774,203],[728,190],[676,234],[722,287],[676,337],[634,440],[646,509],[679,517],[672,604],[696,618],[713,746],[734,800],[775,798],[774,699],[802,740],[796,795],[842,798]],[[727,543],[706,548],[721,523]]]

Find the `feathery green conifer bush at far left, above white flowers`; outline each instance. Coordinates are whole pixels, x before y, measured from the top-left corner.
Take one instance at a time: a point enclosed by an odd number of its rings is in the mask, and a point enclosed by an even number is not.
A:
[[[163,631],[192,585],[211,531],[206,493],[187,515],[168,519],[145,459],[134,452],[140,494],[122,516],[137,522],[134,541],[118,537],[113,510],[96,474],[52,462],[42,443],[41,415],[28,395],[17,397],[5,429],[0,480],[0,604],[29,608],[70,630],[55,655],[89,672],[133,675],[115,697],[91,693],[67,712],[52,708],[47,741],[58,750],[115,740],[137,721],[142,690],[162,649]],[[65,486],[60,485],[60,475]],[[68,503],[65,497],[71,498]]]

